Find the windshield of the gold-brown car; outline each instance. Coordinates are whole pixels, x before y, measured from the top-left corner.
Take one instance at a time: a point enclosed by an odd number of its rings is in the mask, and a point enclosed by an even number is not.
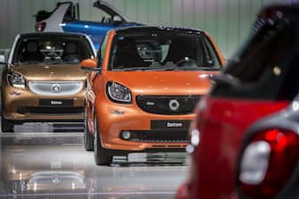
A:
[[[84,37],[43,35],[21,37],[12,63],[78,64],[91,57],[91,47]]]

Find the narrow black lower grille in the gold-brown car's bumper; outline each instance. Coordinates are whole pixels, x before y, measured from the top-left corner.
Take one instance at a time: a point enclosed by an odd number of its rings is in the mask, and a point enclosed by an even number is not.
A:
[[[84,114],[84,107],[19,107],[20,114]]]

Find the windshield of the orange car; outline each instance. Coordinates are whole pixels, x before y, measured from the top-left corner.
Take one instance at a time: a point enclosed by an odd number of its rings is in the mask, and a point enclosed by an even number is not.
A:
[[[117,36],[111,63],[112,70],[220,70],[207,37],[172,32]]]

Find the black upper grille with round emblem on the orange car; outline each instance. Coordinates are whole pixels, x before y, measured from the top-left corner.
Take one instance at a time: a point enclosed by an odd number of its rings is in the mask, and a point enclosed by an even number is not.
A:
[[[194,112],[200,95],[137,95],[139,108],[154,114],[180,115]]]

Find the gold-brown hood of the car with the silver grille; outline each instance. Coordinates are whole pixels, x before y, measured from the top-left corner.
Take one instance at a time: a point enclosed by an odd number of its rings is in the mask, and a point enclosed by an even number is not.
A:
[[[87,72],[79,64],[23,64],[13,66],[11,70],[23,75],[28,80],[85,80]]]

